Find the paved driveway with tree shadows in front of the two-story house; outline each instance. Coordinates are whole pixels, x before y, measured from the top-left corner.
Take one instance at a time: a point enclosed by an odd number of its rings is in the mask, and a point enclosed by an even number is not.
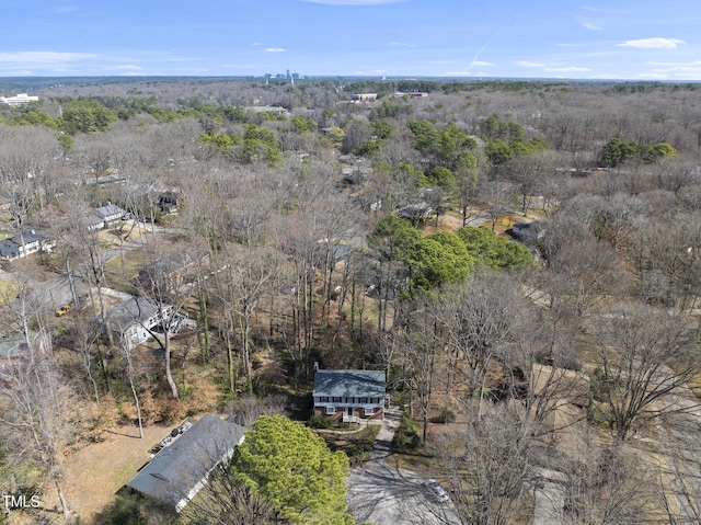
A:
[[[352,469],[347,501],[356,522],[372,525],[459,524],[449,503],[429,500],[422,491],[424,477],[388,463],[399,420],[397,413],[386,415],[370,460]]]

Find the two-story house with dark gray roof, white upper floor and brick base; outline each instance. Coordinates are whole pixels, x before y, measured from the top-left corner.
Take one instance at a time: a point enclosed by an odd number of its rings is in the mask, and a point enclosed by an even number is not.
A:
[[[314,376],[313,413],[344,421],[381,420],[384,396],[384,372],[319,370]]]

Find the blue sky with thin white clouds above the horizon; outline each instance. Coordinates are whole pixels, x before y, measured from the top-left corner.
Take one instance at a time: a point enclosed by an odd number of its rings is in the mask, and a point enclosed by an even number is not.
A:
[[[699,0],[3,3],[3,77],[701,80]]]

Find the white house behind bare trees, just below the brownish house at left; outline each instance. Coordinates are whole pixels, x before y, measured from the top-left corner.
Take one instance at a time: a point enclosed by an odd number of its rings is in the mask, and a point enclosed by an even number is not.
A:
[[[131,297],[105,313],[106,326],[103,330],[115,340],[122,340],[134,349],[145,343],[153,330],[169,322],[174,315],[171,305],[158,303],[148,297]]]

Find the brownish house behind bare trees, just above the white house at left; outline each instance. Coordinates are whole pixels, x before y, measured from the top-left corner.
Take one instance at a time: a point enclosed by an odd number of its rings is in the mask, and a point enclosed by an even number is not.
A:
[[[172,253],[139,271],[139,285],[145,290],[173,294],[191,282],[197,274],[208,271],[209,252],[202,248],[188,248]]]

